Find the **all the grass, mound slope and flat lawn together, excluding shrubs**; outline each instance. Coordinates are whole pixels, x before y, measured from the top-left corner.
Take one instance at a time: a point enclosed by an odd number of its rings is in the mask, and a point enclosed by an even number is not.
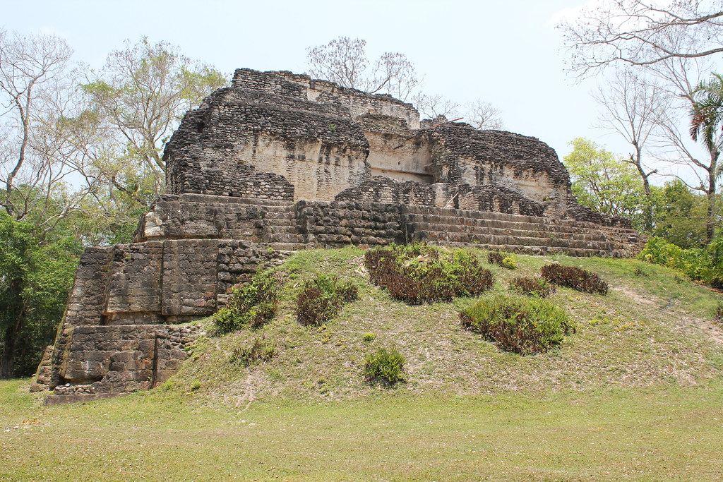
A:
[[[558,288],[548,299],[576,334],[523,357],[461,327],[458,309],[478,298],[394,301],[368,283],[363,254],[292,255],[275,319],[202,338],[151,392],[43,407],[27,381],[0,382],[0,480],[723,478],[719,293],[636,260],[515,255],[517,270],[488,265],[489,296],[550,261],[611,285]],[[359,300],[303,327],[294,296],[316,273],[354,282]],[[229,361],[262,336],[272,360]],[[364,382],[364,356],[382,347],[404,356],[406,382]]]

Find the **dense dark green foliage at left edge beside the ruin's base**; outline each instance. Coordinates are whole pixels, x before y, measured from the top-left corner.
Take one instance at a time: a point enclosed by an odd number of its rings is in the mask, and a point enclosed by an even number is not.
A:
[[[28,376],[52,343],[82,246],[70,237],[40,244],[34,226],[0,212],[0,374]]]

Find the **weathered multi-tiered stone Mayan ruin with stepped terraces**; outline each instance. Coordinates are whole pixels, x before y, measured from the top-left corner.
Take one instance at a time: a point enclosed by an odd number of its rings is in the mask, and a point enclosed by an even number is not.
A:
[[[229,288],[290,251],[427,241],[629,257],[625,218],[576,202],[534,137],[419,119],[414,106],[291,72],[237,69],[166,145],[167,194],[131,244],[82,255],[34,391],[46,403],[163,383]]]

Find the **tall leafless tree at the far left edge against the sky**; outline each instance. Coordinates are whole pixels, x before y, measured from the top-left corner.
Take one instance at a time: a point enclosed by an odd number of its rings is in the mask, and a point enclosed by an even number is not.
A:
[[[78,148],[72,51],[54,35],[0,31],[0,205],[39,234],[51,231],[94,189]],[[80,176],[90,184],[73,186]]]

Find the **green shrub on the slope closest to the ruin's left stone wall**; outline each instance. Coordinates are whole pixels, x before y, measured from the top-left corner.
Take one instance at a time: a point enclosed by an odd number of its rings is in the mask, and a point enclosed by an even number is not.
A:
[[[213,315],[219,334],[243,327],[259,328],[276,316],[281,278],[274,270],[258,271],[241,288],[233,288],[225,307]]]

